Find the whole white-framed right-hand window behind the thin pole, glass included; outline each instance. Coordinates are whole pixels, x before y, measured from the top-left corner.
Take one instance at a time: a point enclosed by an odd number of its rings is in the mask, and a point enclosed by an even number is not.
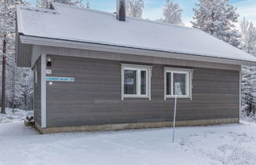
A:
[[[192,69],[164,68],[164,98],[192,97]]]

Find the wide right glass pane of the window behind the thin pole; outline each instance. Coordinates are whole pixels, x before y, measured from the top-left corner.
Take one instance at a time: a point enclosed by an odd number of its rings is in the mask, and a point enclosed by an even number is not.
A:
[[[173,94],[186,95],[186,74],[173,73]]]

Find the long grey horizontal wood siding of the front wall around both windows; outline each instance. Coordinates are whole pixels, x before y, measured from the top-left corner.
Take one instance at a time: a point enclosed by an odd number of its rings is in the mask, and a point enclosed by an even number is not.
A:
[[[75,82],[47,83],[47,127],[172,121],[174,99],[164,101],[164,65],[149,64],[151,101],[121,101],[122,61],[53,55],[51,60],[51,76]],[[239,71],[193,69],[193,100],[178,99],[177,120],[239,118]]]

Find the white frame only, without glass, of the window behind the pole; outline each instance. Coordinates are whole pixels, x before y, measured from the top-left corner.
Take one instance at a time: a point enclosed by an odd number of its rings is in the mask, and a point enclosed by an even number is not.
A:
[[[194,69],[186,69],[186,68],[164,68],[164,101],[167,98],[190,98],[192,100],[192,79],[193,79]],[[167,73],[171,73],[171,95],[167,95]],[[186,95],[174,95],[173,94],[173,74],[181,73],[186,74]]]

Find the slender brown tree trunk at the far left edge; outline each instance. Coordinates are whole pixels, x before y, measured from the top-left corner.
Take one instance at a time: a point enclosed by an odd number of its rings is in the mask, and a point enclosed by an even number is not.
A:
[[[6,35],[2,42],[2,109],[1,113],[6,113]]]

